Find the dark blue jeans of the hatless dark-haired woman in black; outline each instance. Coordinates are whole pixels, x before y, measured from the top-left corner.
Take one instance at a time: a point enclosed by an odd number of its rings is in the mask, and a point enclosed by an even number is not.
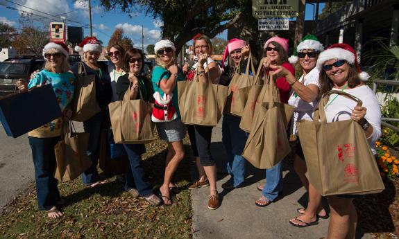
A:
[[[124,144],[129,158],[128,168],[126,168],[125,173],[125,190],[129,191],[132,188],[136,188],[140,195],[148,197],[153,194],[153,190],[144,173],[142,165],[142,146],[143,145],[139,144]]]

